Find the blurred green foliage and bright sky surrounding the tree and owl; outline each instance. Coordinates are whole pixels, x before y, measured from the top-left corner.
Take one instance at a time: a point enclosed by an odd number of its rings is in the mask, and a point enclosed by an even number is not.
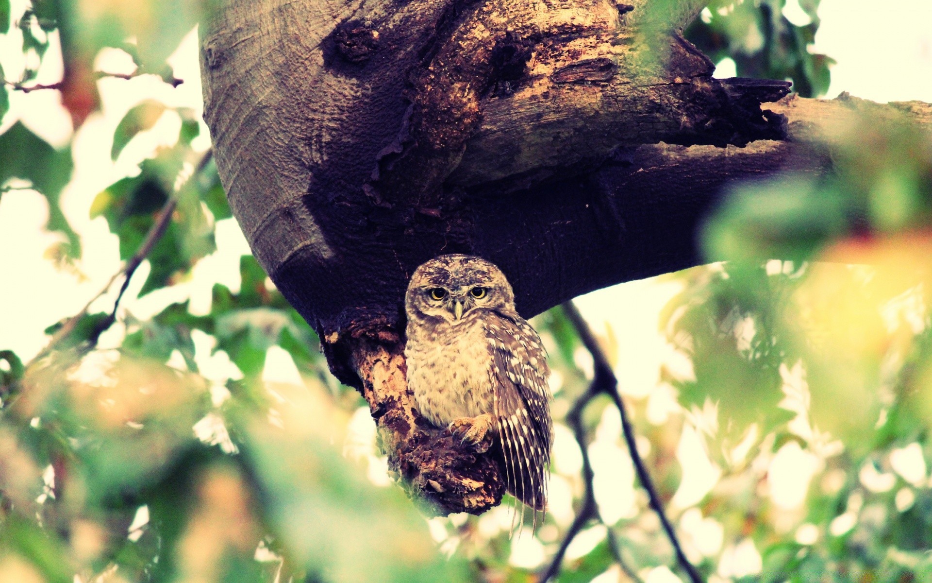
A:
[[[535,319],[557,421],[536,533],[509,536],[507,505],[423,519],[203,158],[195,6],[0,0],[0,580],[535,580],[584,492],[564,417],[591,354],[561,309]],[[929,21],[923,0],[716,1],[687,35],[718,76],[932,102]],[[576,301],[709,581],[932,577],[932,146],[838,132],[830,180],[733,187],[705,238],[730,262]],[[608,398],[583,426],[598,519],[558,580],[679,580]]]

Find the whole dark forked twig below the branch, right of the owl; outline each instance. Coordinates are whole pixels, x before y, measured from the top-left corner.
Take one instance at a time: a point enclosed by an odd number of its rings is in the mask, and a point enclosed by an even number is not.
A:
[[[602,348],[599,346],[596,337],[593,335],[589,325],[583,319],[582,314],[580,314],[580,312],[576,309],[576,306],[574,306],[571,301],[568,301],[563,303],[562,307],[563,312],[567,316],[567,319],[569,319],[569,322],[576,329],[576,333],[579,334],[580,340],[583,341],[583,345],[586,347],[589,353],[592,354],[593,359],[593,381],[589,385],[589,388],[586,390],[586,392],[576,399],[576,402],[573,403],[572,408],[569,409],[569,413],[567,413],[567,423],[569,423],[570,428],[573,430],[573,436],[576,438],[577,443],[579,443],[580,451],[583,453],[583,480],[585,482],[585,494],[583,496],[583,507],[580,508],[579,514],[576,515],[576,519],[569,526],[569,530],[567,531],[567,534],[564,537],[560,548],[556,551],[554,560],[550,563],[550,565],[547,567],[547,570],[541,576],[541,583],[550,580],[559,572],[560,563],[563,562],[563,556],[569,547],[569,543],[572,542],[576,534],[579,534],[585,523],[590,519],[601,521],[598,515],[598,508],[596,507],[596,497],[593,490],[593,471],[592,465],[589,462],[589,454],[586,450],[585,430],[583,428],[582,420],[583,409],[585,409],[585,407],[596,396],[599,395],[609,396],[611,398],[611,402],[614,403],[615,407],[618,409],[622,416],[624,442],[627,444],[628,451],[631,454],[631,460],[634,462],[635,470],[637,471],[637,479],[640,481],[644,490],[648,493],[651,509],[656,512],[657,517],[660,519],[660,522],[664,527],[664,532],[667,538],[670,540],[670,544],[673,546],[674,552],[676,553],[679,567],[686,573],[687,576],[689,576],[689,579],[692,583],[703,583],[702,576],[699,575],[699,572],[696,570],[692,562],[686,558],[686,554],[683,552],[683,548],[679,542],[677,534],[673,530],[673,525],[670,523],[669,519],[666,518],[664,505],[660,500],[660,496],[657,494],[657,489],[653,485],[651,475],[648,473],[647,467],[644,465],[644,460],[641,459],[640,454],[637,452],[637,442],[634,427],[628,418],[628,413],[627,409],[625,409],[624,401],[618,394],[618,380],[615,378],[615,373],[612,371],[605,353],[602,352]],[[611,528],[609,528],[609,545],[615,560],[618,561],[622,566],[625,574],[635,579],[636,581],[639,580],[637,576],[634,575],[630,567],[625,564],[621,555],[621,551],[618,548],[617,541],[614,539],[614,535],[611,532]]]

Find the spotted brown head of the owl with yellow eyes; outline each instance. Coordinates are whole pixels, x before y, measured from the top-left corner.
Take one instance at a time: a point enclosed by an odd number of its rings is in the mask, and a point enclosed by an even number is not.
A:
[[[494,263],[471,255],[442,255],[415,270],[404,307],[408,319],[457,322],[473,310],[514,312],[514,292]]]

